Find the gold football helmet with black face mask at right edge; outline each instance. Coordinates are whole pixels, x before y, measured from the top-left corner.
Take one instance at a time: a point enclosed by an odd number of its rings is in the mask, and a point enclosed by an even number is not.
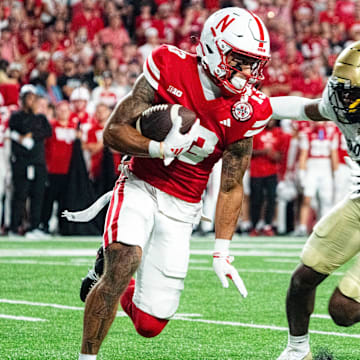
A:
[[[360,41],[337,57],[329,79],[329,100],[340,122],[360,122]]]

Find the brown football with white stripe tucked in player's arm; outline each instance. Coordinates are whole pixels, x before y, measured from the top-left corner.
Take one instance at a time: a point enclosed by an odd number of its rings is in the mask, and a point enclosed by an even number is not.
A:
[[[163,141],[171,130],[176,116],[180,116],[180,132],[186,134],[197,119],[196,114],[178,104],[159,104],[146,109],[136,120],[136,129],[149,139]]]

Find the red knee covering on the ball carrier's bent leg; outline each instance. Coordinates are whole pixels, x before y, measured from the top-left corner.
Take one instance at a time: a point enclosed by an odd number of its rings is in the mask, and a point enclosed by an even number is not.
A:
[[[144,337],[154,337],[161,333],[169,320],[158,319],[138,309],[132,302],[135,290],[135,280],[131,279],[127,289],[121,295],[120,304],[123,310],[129,315],[136,331]]]

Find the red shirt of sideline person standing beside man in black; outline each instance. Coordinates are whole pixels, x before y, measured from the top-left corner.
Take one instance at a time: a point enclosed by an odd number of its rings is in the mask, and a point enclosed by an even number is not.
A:
[[[52,120],[51,126],[52,136],[45,143],[47,169],[50,174],[67,174],[76,138],[77,122],[69,120],[67,126],[62,126],[58,121]]]

